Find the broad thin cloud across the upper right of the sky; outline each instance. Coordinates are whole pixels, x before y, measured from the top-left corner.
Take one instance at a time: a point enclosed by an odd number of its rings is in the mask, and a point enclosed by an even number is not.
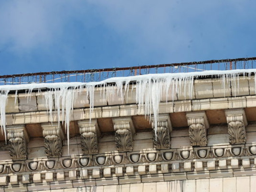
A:
[[[90,0],[90,3],[100,8],[106,25],[132,41],[143,57],[152,53],[169,61],[172,56],[177,61],[186,59],[186,54],[191,59],[200,52],[213,55],[211,51],[230,40],[243,19],[248,15],[255,18],[252,1]]]

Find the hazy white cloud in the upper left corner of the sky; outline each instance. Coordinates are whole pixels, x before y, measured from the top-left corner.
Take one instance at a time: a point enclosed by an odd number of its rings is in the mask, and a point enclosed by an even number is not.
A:
[[[70,16],[68,9],[72,14],[76,13],[72,3],[66,0],[2,2],[0,45],[21,52],[50,45],[62,35],[63,26]]]

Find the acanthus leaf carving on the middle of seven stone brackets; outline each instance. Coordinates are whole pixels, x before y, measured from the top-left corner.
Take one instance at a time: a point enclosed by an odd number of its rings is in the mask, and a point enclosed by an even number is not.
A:
[[[128,129],[118,129],[115,132],[115,140],[118,151],[132,151],[132,133]]]

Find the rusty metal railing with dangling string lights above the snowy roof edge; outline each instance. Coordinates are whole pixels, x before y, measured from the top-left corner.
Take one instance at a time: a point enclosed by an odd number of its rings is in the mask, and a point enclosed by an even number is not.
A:
[[[143,65],[78,71],[52,71],[0,76],[0,85],[54,82],[97,82],[111,77],[126,77],[154,73],[181,73],[206,70],[256,68],[256,57],[208,60],[199,62]]]

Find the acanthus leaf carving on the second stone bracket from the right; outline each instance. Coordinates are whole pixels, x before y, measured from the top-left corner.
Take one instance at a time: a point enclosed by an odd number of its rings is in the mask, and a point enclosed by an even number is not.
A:
[[[197,123],[189,126],[189,138],[192,146],[206,146],[207,135],[204,125]]]

